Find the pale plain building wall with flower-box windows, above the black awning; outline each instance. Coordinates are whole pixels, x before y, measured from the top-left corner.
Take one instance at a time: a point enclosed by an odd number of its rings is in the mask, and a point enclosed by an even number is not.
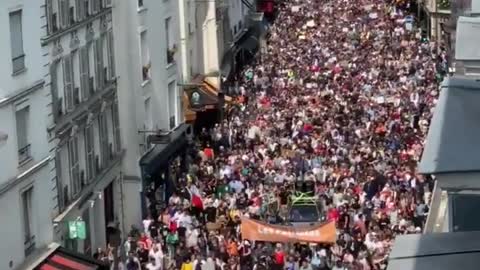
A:
[[[146,137],[183,122],[178,16],[174,0],[119,1],[113,9],[127,229],[142,220],[139,160],[151,147]]]

